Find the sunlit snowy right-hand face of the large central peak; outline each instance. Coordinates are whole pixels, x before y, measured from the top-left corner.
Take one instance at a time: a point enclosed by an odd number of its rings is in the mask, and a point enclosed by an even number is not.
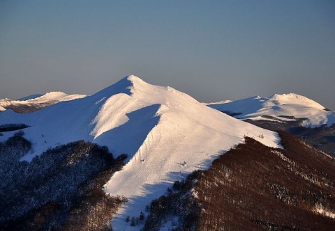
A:
[[[173,88],[152,86],[135,77],[130,79],[133,86],[129,101],[141,99],[142,106],[153,105],[156,113],[152,113],[151,121],[155,121],[155,126],[124,169],[105,185],[107,193],[130,200],[113,220],[116,230],[131,229],[124,222],[127,215],[144,212],[145,205],[162,195],[174,180],[207,168],[218,154],[243,141],[244,135],[258,138],[266,134],[267,138],[258,139],[277,146],[278,137],[272,132],[209,109]],[[187,166],[182,165],[184,161]]]

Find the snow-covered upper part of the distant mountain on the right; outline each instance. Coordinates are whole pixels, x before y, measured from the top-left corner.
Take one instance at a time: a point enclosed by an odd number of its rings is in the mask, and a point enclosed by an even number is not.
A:
[[[335,122],[335,111],[326,111],[325,107],[294,93],[272,95],[268,98],[259,96],[249,97],[227,103],[208,104],[211,108],[230,113],[241,113],[235,116],[242,120],[265,120],[261,116],[294,116],[295,118],[308,118],[303,125],[318,127],[332,125]],[[278,117],[285,120],[282,117]]]

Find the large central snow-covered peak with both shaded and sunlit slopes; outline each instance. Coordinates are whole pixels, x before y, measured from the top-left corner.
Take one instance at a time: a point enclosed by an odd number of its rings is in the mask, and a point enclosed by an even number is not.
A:
[[[138,216],[175,180],[208,168],[218,154],[251,136],[279,147],[278,134],[225,115],[170,87],[154,86],[133,75],[100,92],[59,102],[34,113],[0,113],[1,124],[25,124],[24,137],[34,151],[70,141],[105,145],[117,157],[128,154],[123,170],[113,175],[105,192],[129,202],[113,219],[116,230],[130,228],[126,216]],[[0,141],[13,135],[6,132]]]

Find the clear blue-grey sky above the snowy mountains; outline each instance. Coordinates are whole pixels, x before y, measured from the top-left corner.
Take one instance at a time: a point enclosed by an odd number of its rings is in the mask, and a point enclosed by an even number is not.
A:
[[[0,98],[128,74],[201,102],[297,93],[335,110],[335,1],[0,1]]]

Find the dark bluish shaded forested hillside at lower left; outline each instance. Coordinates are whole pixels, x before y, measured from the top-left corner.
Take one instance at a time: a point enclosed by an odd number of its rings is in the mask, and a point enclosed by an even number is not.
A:
[[[13,128],[13,127],[11,127]],[[30,163],[20,130],[0,142],[0,230],[98,230],[126,198],[103,193],[103,184],[121,169],[106,147],[76,141],[51,148]]]

